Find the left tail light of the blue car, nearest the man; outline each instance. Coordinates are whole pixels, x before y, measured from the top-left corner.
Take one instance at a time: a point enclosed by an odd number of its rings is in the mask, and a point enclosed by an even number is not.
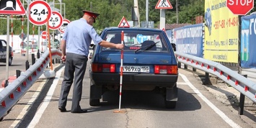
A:
[[[92,72],[115,73],[115,64],[92,63]]]

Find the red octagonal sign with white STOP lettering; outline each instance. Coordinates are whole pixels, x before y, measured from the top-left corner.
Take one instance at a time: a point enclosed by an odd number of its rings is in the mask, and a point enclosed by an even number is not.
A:
[[[233,14],[246,15],[251,11],[254,0],[227,0],[226,6]]]

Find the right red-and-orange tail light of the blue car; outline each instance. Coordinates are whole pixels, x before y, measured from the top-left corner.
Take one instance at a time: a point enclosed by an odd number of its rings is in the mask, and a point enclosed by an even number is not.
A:
[[[154,65],[155,74],[177,74],[177,65]]]

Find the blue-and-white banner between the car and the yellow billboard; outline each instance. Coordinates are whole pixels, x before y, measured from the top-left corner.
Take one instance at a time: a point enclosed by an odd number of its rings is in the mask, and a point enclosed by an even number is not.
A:
[[[173,30],[176,50],[203,58],[203,24],[188,25]]]

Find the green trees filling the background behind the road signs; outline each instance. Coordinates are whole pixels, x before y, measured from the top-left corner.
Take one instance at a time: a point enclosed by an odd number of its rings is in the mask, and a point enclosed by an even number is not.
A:
[[[48,2],[53,0],[48,0]],[[154,9],[159,0],[149,0],[149,21],[154,21],[155,27],[159,24],[159,9]],[[176,23],[176,0],[169,0],[173,6],[173,9],[166,10],[166,23]],[[204,1],[203,0],[177,0],[178,1],[178,15],[179,23],[191,23],[191,19],[196,16],[204,14]],[[58,3],[58,1],[55,1]],[[62,0],[65,3],[62,6],[61,14],[66,16],[66,19],[74,21],[80,19],[83,16],[82,10],[88,10],[97,12],[100,14],[97,17],[94,24],[94,28],[97,32],[101,32],[105,27],[117,27],[122,17],[125,17],[128,21],[132,20],[133,0]],[[92,7],[91,7],[92,6]],[[60,9],[60,4],[55,5]],[[25,9],[27,6],[25,6]],[[146,0],[138,0],[138,9],[140,21],[146,21]],[[65,12],[65,14],[64,14]],[[5,16],[6,17],[6,16]],[[24,16],[26,18],[26,16]],[[20,18],[20,16],[14,17]],[[0,35],[6,35],[7,20],[0,18]],[[14,35],[19,35],[22,32],[22,21],[20,19],[13,20]],[[27,35],[27,19],[23,23],[24,32]],[[32,35],[33,25],[30,23],[30,35]],[[42,29],[43,27],[43,29]],[[11,34],[11,20],[10,20],[10,34]],[[45,30],[45,25],[40,27],[40,30]],[[38,33],[38,27],[35,26],[35,35]]]

